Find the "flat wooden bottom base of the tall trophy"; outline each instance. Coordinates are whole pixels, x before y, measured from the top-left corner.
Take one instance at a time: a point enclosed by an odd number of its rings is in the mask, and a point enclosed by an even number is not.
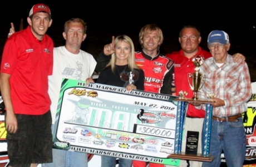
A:
[[[185,154],[184,152],[181,152],[180,154],[170,154],[167,157],[174,158],[174,159],[208,161],[208,162],[211,162],[214,159],[214,156],[210,154],[208,156],[202,156],[202,154],[191,155],[191,154]]]

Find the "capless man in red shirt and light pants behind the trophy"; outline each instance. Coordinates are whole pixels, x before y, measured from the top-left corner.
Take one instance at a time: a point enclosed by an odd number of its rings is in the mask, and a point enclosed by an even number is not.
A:
[[[190,88],[188,83],[188,74],[195,72],[195,65],[192,62],[194,55],[201,55],[204,59],[210,58],[211,53],[207,52],[199,44],[201,42],[201,35],[198,29],[194,26],[185,26],[181,29],[179,34],[179,42],[181,50],[179,52],[173,52],[171,54],[166,54],[166,57],[174,60],[174,78],[175,78],[175,88],[176,95],[179,95],[179,92],[187,92],[186,98],[193,97],[193,90]],[[238,62],[244,60],[242,54],[235,54],[233,60]],[[194,105],[188,104],[188,109],[186,113],[185,125],[184,125],[184,136],[181,151],[185,152],[186,144],[186,134],[187,131],[199,131],[199,143],[198,143],[198,153],[201,153],[201,132],[203,129],[205,111],[203,109],[195,109]],[[200,161],[188,161],[190,166],[199,167],[202,165]],[[168,166],[168,165],[166,165]],[[185,160],[181,160],[180,166],[187,166]]]

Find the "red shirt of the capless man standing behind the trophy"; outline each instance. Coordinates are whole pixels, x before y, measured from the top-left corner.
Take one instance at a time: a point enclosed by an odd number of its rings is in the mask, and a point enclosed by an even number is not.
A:
[[[195,55],[201,55],[204,59],[211,57],[209,52],[202,50],[200,47],[198,49],[198,53]],[[195,65],[192,62],[192,58],[186,58],[184,56],[183,50],[181,49],[179,52],[173,52],[171,54],[166,54],[166,57],[174,60],[174,75],[175,75],[175,88],[176,88],[176,95],[179,95],[181,90],[186,91],[188,95],[187,98],[192,98],[194,96],[193,90],[190,88],[188,83],[188,73],[195,72]],[[195,107],[191,104],[188,106],[188,112],[186,114],[188,117],[195,117],[195,118],[204,118],[205,111],[195,109]]]

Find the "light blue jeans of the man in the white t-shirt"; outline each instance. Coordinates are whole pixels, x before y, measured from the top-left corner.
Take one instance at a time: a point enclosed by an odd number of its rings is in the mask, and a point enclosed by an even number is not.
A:
[[[53,131],[53,125],[52,125]],[[52,149],[53,163],[42,164],[42,167],[87,167],[87,154],[76,151]]]

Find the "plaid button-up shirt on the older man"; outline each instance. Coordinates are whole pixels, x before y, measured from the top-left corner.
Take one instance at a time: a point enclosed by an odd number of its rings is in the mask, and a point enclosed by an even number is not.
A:
[[[215,94],[216,98],[225,101],[222,107],[214,107],[213,115],[227,117],[247,111],[247,101],[252,95],[250,74],[247,63],[234,63],[232,55],[219,68],[211,57],[201,65],[200,73],[206,75],[199,98],[207,98],[207,94]],[[203,105],[205,109],[205,105]]]

